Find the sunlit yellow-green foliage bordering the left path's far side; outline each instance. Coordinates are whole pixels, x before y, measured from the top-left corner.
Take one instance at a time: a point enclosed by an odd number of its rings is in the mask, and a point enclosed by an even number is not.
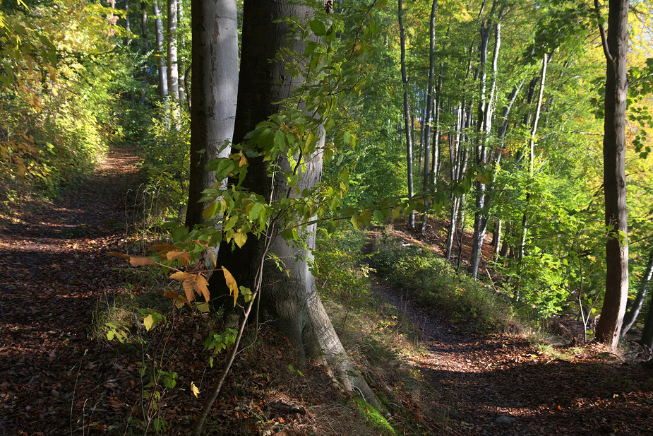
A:
[[[105,13],[66,1],[0,8],[0,192],[51,196],[78,184],[121,135],[112,83],[125,69]]]

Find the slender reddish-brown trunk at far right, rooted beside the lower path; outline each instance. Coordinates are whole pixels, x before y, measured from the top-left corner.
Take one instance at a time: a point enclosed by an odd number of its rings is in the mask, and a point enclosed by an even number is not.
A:
[[[598,0],[594,0],[599,13]],[[603,139],[606,202],[606,294],[597,339],[616,349],[628,299],[628,225],[625,187],[625,109],[628,94],[628,0],[610,0],[608,36],[599,26],[606,55]],[[601,20],[599,20],[601,23]]]

